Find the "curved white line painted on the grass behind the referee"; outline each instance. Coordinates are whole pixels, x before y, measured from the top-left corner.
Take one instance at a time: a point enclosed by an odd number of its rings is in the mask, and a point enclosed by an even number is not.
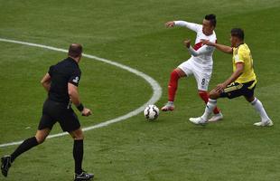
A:
[[[26,43],[26,42],[21,42],[21,41],[9,40],[9,39],[5,39],[5,38],[0,38],[0,42],[18,43],[18,44],[23,44],[23,45],[28,45],[28,46],[34,46],[34,47],[39,47],[39,48],[43,48],[43,49],[48,49],[48,50],[51,50],[51,51],[68,52],[67,50],[61,49],[61,48],[55,48],[55,47],[52,47],[52,46],[46,46],[46,45],[37,44],[37,43]],[[116,119],[110,119],[110,120],[107,120],[105,122],[101,122],[101,123],[99,123],[97,125],[93,125],[93,126],[84,128],[83,131],[88,131],[88,130],[91,130],[91,129],[98,129],[98,128],[102,128],[102,127],[107,127],[110,124],[113,124],[113,123],[116,123],[116,122],[119,122],[119,121],[122,121],[122,120],[125,120],[125,119],[129,119],[129,118],[139,114],[140,112],[142,112],[147,105],[154,104],[157,100],[159,100],[161,98],[161,96],[162,96],[162,88],[161,88],[161,86],[159,85],[159,83],[157,81],[155,81],[152,77],[146,75],[144,72],[137,71],[137,70],[135,70],[135,69],[133,69],[131,67],[128,67],[126,65],[123,65],[121,63],[113,62],[113,61],[110,61],[110,60],[107,60],[107,59],[103,59],[103,58],[100,58],[100,57],[97,57],[97,56],[94,56],[94,55],[84,54],[83,53],[83,56],[87,57],[89,59],[97,60],[99,62],[105,62],[107,64],[114,65],[114,66],[116,66],[118,68],[121,68],[121,69],[124,69],[126,71],[130,71],[130,72],[134,73],[135,75],[143,78],[145,81],[147,81],[150,84],[150,86],[152,87],[152,89],[153,89],[153,96],[151,97],[151,99],[148,100],[140,108],[138,108],[136,110],[132,110],[131,112],[128,112],[126,115],[117,117]],[[67,135],[67,134],[68,133],[63,132],[63,133],[59,133],[59,134],[50,135],[48,138],[61,137],[61,136]],[[13,146],[13,145],[19,145],[22,142],[23,142],[23,140],[22,141],[11,142],[11,143],[1,144],[0,148],[5,148],[5,147],[8,147],[8,146]]]

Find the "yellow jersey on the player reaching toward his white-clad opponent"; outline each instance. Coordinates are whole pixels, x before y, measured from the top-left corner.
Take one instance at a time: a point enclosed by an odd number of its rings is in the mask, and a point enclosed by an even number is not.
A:
[[[246,83],[248,81],[257,82],[257,77],[254,72],[254,66],[253,66],[253,58],[251,55],[251,51],[246,43],[240,44],[237,48],[233,47],[233,58],[232,58],[233,71],[236,71],[238,62],[244,63],[244,70],[242,74],[238,77],[236,82],[238,83]]]

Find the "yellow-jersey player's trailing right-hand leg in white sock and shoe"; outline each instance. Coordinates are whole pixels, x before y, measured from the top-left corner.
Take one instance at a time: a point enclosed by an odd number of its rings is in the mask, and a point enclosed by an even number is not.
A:
[[[253,91],[253,92],[252,92]],[[257,113],[260,115],[261,121],[254,123],[258,127],[273,126],[273,121],[266,114],[266,110],[260,100],[254,96],[254,90],[251,90],[250,95],[245,96],[245,99],[251,103]]]

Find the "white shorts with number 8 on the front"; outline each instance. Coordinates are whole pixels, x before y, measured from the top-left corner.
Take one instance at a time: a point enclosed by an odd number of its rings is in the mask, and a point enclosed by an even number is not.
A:
[[[204,66],[204,67],[203,67]],[[201,63],[189,59],[182,62],[178,68],[185,72],[187,77],[193,75],[198,86],[198,90],[208,90],[210,78],[212,74],[212,66],[205,66]]]

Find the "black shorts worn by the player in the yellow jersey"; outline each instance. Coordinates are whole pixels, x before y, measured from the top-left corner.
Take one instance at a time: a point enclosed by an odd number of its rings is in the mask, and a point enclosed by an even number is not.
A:
[[[254,96],[256,83],[257,81],[248,81],[246,83],[233,82],[219,94],[219,97],[233,99],[239,96],[245,96],[251,98]]]

